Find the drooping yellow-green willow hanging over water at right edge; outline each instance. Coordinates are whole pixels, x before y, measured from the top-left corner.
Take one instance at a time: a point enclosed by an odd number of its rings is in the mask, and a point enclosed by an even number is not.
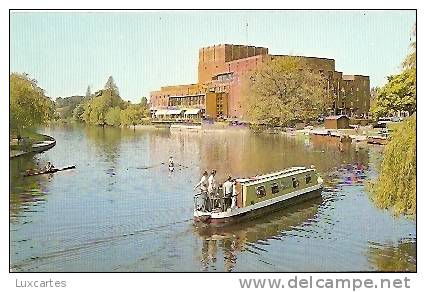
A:
[[[407,118],[386,145],[379,177],[370,197],[377,207],[395,215],[416,215],[416,117]]]

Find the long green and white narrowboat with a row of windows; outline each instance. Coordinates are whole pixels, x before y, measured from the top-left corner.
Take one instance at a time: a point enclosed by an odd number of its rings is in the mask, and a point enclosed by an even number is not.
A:
[[[200,194],[196,194],[194,221],[221,226],[256,218],[319,197],[322,189],[323,180],[314,168],[292,167],[265,175],[239,178],[234,182],[236,204],[232,208],[223,208],[220,195],[215,197],[219,204],[209,204],[213,206],[209,210],[200,208]]]

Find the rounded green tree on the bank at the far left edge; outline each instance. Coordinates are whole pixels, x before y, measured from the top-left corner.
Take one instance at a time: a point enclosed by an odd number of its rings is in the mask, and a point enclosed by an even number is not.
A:
[[[27,74],[10,75],[10,127],[20,133],[24,128],[46,124],[53,117],[53,102],[45,96],[37,80]]]

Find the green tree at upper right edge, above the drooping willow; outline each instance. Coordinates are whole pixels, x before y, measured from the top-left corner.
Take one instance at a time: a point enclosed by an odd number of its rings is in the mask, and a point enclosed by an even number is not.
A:
[[[402,62],[402,72],[388,77],[388,82],[378,90],[377,98],[371,106],[375,118],[390,116],[398,111],[407,111],[410,115],[417,107],[416,84],[416,34],[415,27],[411,42],[411,52]]]

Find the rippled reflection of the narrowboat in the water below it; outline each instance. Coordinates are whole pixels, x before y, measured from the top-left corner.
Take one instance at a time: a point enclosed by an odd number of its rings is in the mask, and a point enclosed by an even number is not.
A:
[[[260,218],[223,227],[194,225],[196,234],[202,239],[202,269],[222,270],[217,267],[218,261],[221,261],[218,256],[222,253],[223,270],[233,271],[238,254],[264,252],[261,246],[268,244],[267,241],[284,240],[292,230],[315,222],[322,201],[322,197],[317,197]]]

